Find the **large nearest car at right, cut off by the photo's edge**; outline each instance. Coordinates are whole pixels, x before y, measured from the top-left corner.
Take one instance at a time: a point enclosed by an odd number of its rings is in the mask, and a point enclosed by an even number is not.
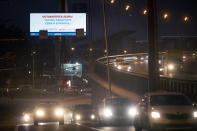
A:
[[[139,103],[138,112],[134,121],[136,131],[189,129],[197,123],[196,108],[181,93],[147,93]]]

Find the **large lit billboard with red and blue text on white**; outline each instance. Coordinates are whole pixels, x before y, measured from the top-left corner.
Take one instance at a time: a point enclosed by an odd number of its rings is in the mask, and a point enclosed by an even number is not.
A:
[[[86,13],[30,13],[30,36],[43,30],[48,36],[76,36],[76,29],[86,36]]]

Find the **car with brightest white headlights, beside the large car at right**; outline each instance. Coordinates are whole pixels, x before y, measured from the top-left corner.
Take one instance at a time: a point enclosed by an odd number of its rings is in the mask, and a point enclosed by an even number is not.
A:
[[[99,109],[101,125],[132,124],[137,115],[137,103],[128,98],[109,97],[103,100]]]

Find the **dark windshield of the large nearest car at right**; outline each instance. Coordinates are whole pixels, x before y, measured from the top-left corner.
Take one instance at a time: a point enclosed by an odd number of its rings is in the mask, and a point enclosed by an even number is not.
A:
[[[155,95],[150,98],[151,106],[169,106],[169,105],[191,105],[187,97],[183,95]]]

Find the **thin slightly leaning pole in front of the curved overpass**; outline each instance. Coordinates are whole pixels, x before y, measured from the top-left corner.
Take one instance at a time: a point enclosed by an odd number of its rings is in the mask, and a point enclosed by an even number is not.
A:
[[[105,33],[105,49],[106,49],[106,57],[107,57],[107,79],[108,79],[108,89],[109,96],[112,96],[111,92],[111,77],[110,77],[110,67],[109,67],[109,48],[108,48],[108,40],[107,40],[107,27],[106,27],[106,15],[105,15],[105,0],[102,0],[102,9],[103,9],[103,23],[104,23],[104,33]]]

